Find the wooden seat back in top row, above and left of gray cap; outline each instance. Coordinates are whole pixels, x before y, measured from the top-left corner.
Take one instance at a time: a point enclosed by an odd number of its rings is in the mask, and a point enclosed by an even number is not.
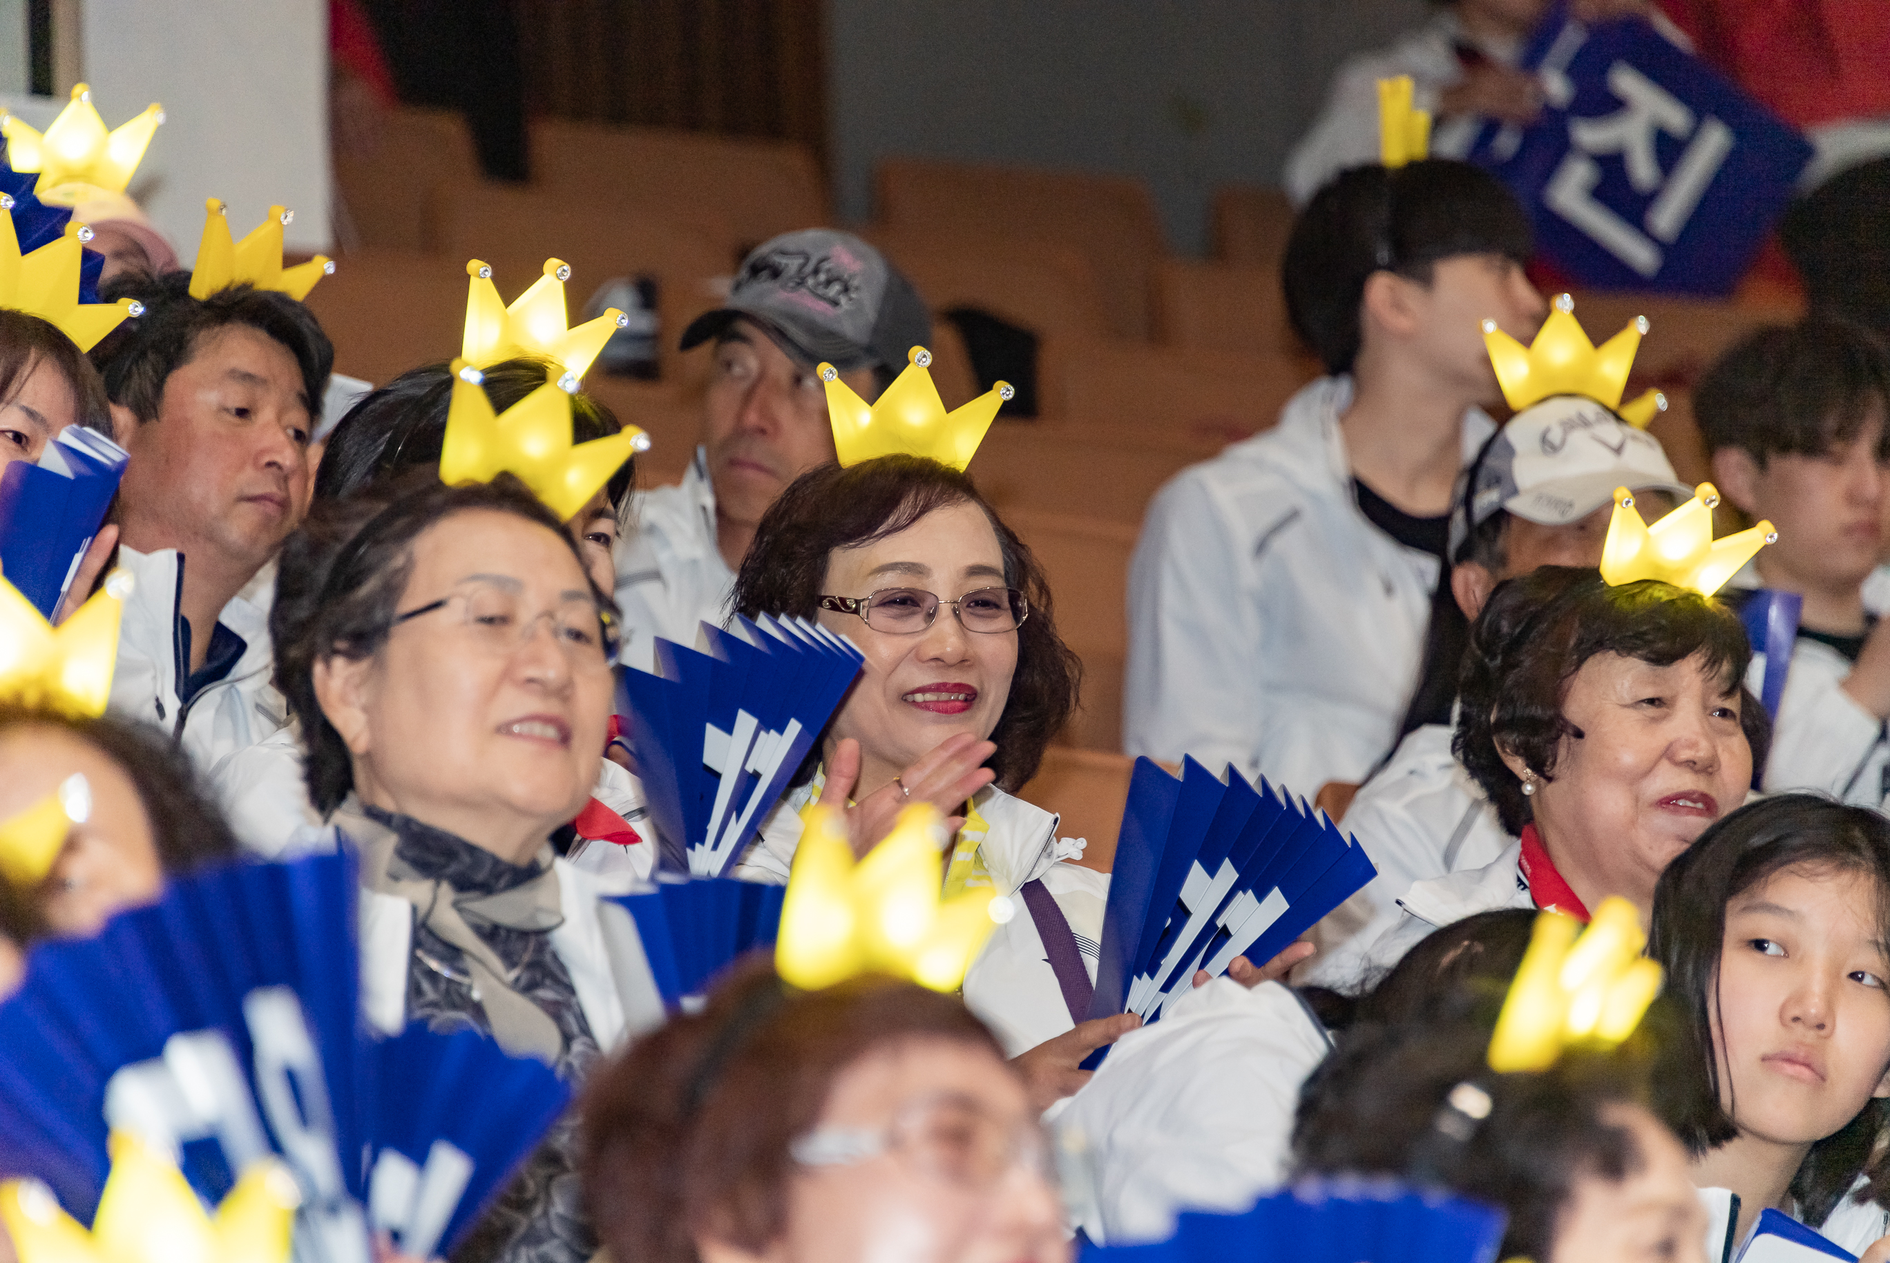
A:
[[[711,216],[724,272],[769,236],[833,217],[813,153],[786,140],[537,119],[531,172],[542,187],[609,197],[671,223],[703,229]]]

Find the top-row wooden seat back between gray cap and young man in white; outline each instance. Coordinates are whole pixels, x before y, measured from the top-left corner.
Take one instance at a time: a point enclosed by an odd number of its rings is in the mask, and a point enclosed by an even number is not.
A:
[[[1149,337],[1149,270],[1166,238],[1147,185],[1126,176],[885,159],[879,221],[896,231],[988,242],[1051,240],[1089,255],[1109,304],[1109,327]]]

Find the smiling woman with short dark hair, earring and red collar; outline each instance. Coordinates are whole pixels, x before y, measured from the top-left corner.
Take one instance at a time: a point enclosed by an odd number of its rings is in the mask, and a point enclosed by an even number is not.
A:
[[[1765,758],[1739,618],[1659,580],[1544,565],[1501,584],[1470,630],[1452,749],[1518,838],[1493,862],[1419,881],[1370,949],[1382,968],[1435,926],[1493,908],[1582,921],[1654,883]]]

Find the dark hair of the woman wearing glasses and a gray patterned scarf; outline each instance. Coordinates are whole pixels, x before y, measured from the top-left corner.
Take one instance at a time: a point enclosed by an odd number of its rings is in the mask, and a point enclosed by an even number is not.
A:
[[[308,800],[323,817],[353,788],[348,743],[316,701],[316,664],[372,658],[393,630],[395,607],[414,573],[414,541],[455,512],[490,509],[535,522],[578,560],[565,524],[512,475],[446,486],[433,469],[387,478],[348,499],[318,503],[282,546],[268,635],[276,645],[276,688],[302,726]],[[590,584],[590,579],[586,579]],[[599,609],[616,605],[590,584]]]

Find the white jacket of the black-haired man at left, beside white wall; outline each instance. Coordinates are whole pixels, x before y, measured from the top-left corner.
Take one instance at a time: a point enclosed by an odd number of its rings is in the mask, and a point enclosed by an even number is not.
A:
[[[189,705],[178,688],[189,675],[183,656],[183,554],[176,548],[136,552],[119,546],[119,565],[136,580],[119,622],[119,654],[112,673],[110,711],[123,718],[157,724],[178,739],[198,771],[255,745],[289,722],[287,701],[270,683],[274,649],[268,609],[276,594],[276,567],[265,565],[223,607],[217,622],[244,641],[229,675],[206,684]],[[210,635],[210,628],[193,635]]]

